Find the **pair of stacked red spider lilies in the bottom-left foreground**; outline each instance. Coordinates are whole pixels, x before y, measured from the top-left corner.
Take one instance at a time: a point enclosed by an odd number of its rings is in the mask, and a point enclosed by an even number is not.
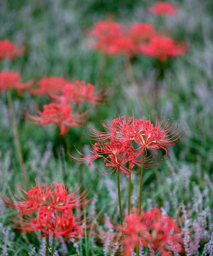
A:
[[[87,190],[77,195],[78,189],[70,194],[63,184],[53,182],[51,186],[42,185],[28,192],[19,189],[20,195],[15,195],[17,201],[3,197],[6,206],[17,209],[19,217],[15,219],[16,227],[21,232],[40,231],[38,236],[55,235],[65,238],[81,238],[83,229],[89,227],[83,218],[83,207],[91,201],[86,199]],[[81,207],[80,213],[79,209]]]

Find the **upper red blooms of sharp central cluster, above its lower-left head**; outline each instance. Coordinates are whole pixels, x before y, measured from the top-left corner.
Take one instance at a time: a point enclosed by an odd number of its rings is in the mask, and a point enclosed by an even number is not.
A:
[[[113,119],[110,125],[103,123],[104,132],[97,131],[94,128],[90,128],[90,132],[92,139],[96,141],[119,139],[119,143],[127,143],[127,145],[135,142],[140,145],[140,148],[134,146],[135,150],[138,151],[135,157],[143,149],[156,150],[163,148],[166,151],[165,155],[167,155],[167,147],[178,143],[184,132],[181,129],[178,131],[178,127],[172,131],[172,121],[168,119],[165,124],[163,124],[163,121],[164,118],[161,121],[156,119],[155,124],[153,124],[150,120],[134,119],[133,116],[130,116],[126,121],[125,116],[122,116]]]

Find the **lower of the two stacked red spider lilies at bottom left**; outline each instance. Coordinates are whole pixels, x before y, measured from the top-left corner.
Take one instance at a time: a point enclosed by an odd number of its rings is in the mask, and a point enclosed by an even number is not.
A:
[[[89,227],[86,225],[88,218],[79,220],[84,212],[75,216],[72,210],[63,209],[61,211],[51,211],[46,207],[35,213],[36,217],[27,215],[25,219],[16,219],[17,229],[21,232],[32,232],[40,230],[40,236],[55,234],[57,238],[82,238],[83,229]]]

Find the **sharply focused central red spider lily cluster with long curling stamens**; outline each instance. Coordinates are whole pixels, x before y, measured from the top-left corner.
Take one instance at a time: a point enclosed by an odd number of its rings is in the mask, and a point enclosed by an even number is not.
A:
[[[72,155],[70,157],[78,163],[89,163],[89,166],[94,160],[102,158],[105,166],[109,167],[104,173],[122,172],[128,177],[135,165],[141,166],[141,158],[138,157],[144,152],[144,168],[153,168],[157,164],[156,159],[153,153],[149,155],[147,150],[162,148],[167,154],[167,147],[178,143],[183,135],[178,128],[173,130],[172,121],[168,120],[165,124],[163,121],[164,118],[161,121],[156,119],[153,124],[150,119],[135,119],[133,116],[128,120],[124,116],[115,118],[110,125],[102,124],[105,131],[91,128],[91,138],[96,143],[92,144],[88,155],[78,151],[81,158]]]

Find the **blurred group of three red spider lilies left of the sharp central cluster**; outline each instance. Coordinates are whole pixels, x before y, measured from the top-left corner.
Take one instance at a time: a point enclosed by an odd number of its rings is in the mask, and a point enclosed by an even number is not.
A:
[[[49,125],[53,123],[60,128],[60,135],[69,131],[70,127],[81,127],[86,120],[86,113],[81,112],[85,103],[90,102],[93,107],[104,99],[103,90],[95,92],[93,84],[86,84],[84,81],[74,81],[70,83],[62,77],[44,76],[39,82],[38,87],[31,90],[32,94],[49,95],[54,102],[43,106],[43,111],[37,110],[39,116],[26,115],[35,125]],[[75,113],[75,111],[77,111]]]

